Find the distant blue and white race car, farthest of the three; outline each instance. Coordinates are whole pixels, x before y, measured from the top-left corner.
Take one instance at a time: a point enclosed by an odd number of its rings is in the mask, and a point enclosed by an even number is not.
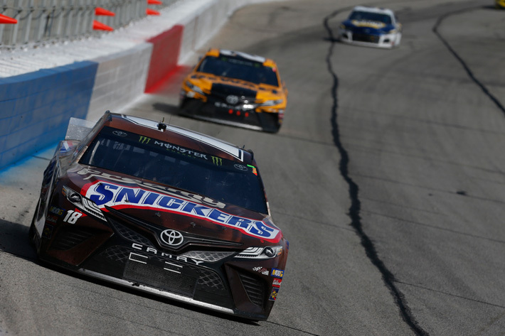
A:
[[[344,43],[378,48],[393,48],[400,45],[402,26],[390,9],[356,6],[342,22],[338,39]]]

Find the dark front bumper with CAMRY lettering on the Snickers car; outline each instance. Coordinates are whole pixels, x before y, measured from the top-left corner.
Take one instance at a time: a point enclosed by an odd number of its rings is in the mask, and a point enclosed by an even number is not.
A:
[[[39,258],[70,271],[110,283],[196,305],[220,313],[252,320],[267,320],[274,300],[272,278],[252,271],[284,265],[279,259],[260,262],[235,258],[235,248],[193,247],[181,252],[163,251],[161,246],[121,220],[107,217],[107,239],[99,246],[96,229],[55,224],[40,237]],[[48,230],[46,230],[47,232]],[[81,261],[82,260],[82,261]],[[75,262],[75,264],[73,264]],[[254,264],[254,265],[252,265]],[[277,289],[278,290],[278,289]]]

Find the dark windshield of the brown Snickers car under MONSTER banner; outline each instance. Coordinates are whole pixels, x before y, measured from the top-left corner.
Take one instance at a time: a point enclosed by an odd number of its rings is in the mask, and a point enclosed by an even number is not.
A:
[[[268,213],[256,167],[174,143],[105,126],[88,146],[80,163]]]

